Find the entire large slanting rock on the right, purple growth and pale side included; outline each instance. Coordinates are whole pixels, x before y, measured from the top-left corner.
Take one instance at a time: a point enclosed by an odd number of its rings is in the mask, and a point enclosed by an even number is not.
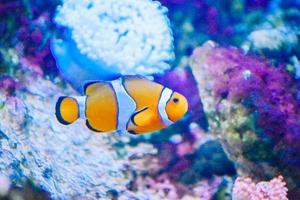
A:
[[[280,172],[298,193],[298,81],[283,68],[211,41],[195,50],[191,66],[209,131],[238,173],[259,180]]]

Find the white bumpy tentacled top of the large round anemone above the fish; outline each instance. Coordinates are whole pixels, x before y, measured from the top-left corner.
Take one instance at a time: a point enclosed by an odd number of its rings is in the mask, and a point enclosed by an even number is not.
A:
[[[152,74],[174,58],[166,11],[152,0],[65,0],[55,20],[91,60],[122,74]]]

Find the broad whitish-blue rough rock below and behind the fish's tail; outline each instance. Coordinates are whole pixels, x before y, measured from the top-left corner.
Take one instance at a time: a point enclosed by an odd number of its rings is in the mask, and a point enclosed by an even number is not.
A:
[[[126,192],[127,151],[117,156],[114,136],[92,133],[83,121],[70,126],[56,121],[56,97],[77,94],[42,78],[25,84],[26,92],[14,97],[6,99],[1,92],[0,171],[13,184],[31,180],[54,199],[109,198],[111,189]]]

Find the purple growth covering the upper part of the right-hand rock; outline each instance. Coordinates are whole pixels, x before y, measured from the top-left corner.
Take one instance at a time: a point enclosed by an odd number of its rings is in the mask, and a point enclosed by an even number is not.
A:
[[[300,163],[299,82],[282,66],[273,67],[233,47],[207,43],[192,59],[205,68],[216,98],[242,103],[256,116],[257,134],[272,139],[280,159]]]

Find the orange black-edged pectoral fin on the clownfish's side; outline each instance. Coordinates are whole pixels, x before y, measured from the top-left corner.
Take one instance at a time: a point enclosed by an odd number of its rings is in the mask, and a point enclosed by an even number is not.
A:
[[[153,115],[153,112],[148,107],[145,107],[135,112],[131,116],[131,121],[135,126],[147,126],[151,124]]]

